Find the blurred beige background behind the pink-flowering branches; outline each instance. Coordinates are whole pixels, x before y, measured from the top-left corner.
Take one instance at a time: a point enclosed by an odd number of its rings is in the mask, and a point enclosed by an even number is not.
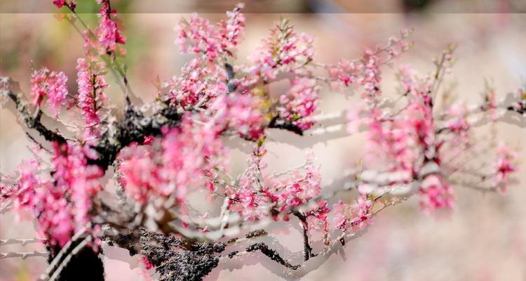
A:
[[[128,37],[126,64],[131,86],[145,101],[156,94],[152,82],[177,74],[189,57],[180,55],[173,44],[173,27],[187,13],[198,11],[215,22],[235,1],[112,1],[123,20]],[[422,74],[433,71],[431,60],[447,46],[458,44],[447,86],[466,103],[480,99],[485,81],[504,98],[526,79],[526,1],[522,0],[376,0],[376,1],[245,1],[247,27],[238,52],[243,62],[259,40],[267,36],[280,18],[291,18],[299,32],[312,34],[315,58],[335,63],[339,58],[358,58],[367,47],[384,44],[402,28],[414,28],[410,40],[414,48],[384,68],[386,95],[395,89],[394,73],[400,63],[410,64]],[[67,20],[60,20],[51,1],[0,0],[0,74],[20,81],[29,92],[32,65],[63,71],[69,77],[69,91],[76,89],[76,58],[83,54],[79,34]],[[96,25],[95,1],[79,1],[79,12],[91,27]],[[123,105],[119,87],[112,82],[108,93],[112,103]],[[346,110],[353,99],[324,88],[322,112]],[[482,128],[481,131],[485,131]],[[524,148],[526,130],[508,124],[497,126],[498,137],[512,147]],[[342,171],[363,156],[363,135],[337,138],[305,145],[302,138],[285,134],[286,143],[268,145],[271,170],[280,171],[304,161],[309,146],[322,165],[324,181],[341,176]],[[280,138],[280,139],[283,139]],[[488,141],[480,138],[479,141]],[[8,110],[0,112],[0,171],[11,173],[20,160],[29,157],[24,131]],[[278,157],[280,155],[280,157]],[[492,157],[492,155],[482,155]],[[522,166],[518,179],[505,195],[456,188],[452,214],[431,217],[419,210],[413,198],[380,214],[367,233],[346,245],[320,268],[302,280],[526,280],[526,152],[518,155]],[[232,150],[232,170],[241,170],[244,152]],[[290,251],[301,251],[298,228],[275,233]],[[0,215],[0,239],[34,237],[30,221],[18,222],[13,214]],[[30,244],[3,246],[1,252],[42,250]],[[144,280],[134,259],[119,259],[118,249],[109,249],[104,262],[107,280]],[[117,256],[117,258],[116,258]],[[297,257],[288,257],[295,261]],[[260,257],[259,259],[266,259]],[[236,267],[238,261],[220,264]],[[241,261],[239,261],[241,262]],[[232,266],[234,263],[234,266]],[[0,280],[34,280],[46,268],[42,258],[0,260]],[[283,280],[259,263],[235,270],[216,269],[206,280]]]

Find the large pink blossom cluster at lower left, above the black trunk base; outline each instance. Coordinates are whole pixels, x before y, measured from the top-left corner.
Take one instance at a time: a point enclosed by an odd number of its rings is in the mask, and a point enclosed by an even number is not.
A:
[[[101,189],[102,170],[89,165],[94,157],[88,147],[72,143],[54,144],[53,174],[42,173],[41,162],[31,160],[18,167],[10,189],[1,188],[3,197],[15,199],[15,208],[29,210],[36,217],[39,232],[60,247],[73,233],[90,221],[92,198]],[[3,178],[5,181],[6,178]],[[4,194],[5,193],[5,194]]]

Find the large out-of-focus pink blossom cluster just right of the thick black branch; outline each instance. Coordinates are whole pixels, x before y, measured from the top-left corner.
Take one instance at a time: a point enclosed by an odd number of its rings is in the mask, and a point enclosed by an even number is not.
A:
[[[191,186],[202,184],[206,171],[222,166],[220,129],[187,115],[180,128],[166,130],[151,145],[129,145],[119,153],[121,184],[137,202],[151,195],[183,200]]]

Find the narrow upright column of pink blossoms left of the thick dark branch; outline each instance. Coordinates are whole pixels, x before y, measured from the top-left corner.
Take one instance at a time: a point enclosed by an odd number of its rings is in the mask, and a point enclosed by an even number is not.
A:
[[[99,110],[102,102],[107,100],[103,90],[109,85],[104,76],[98,73],[102,70],[102,65],[96,61],[90,63],[89,58],[79,58],[76,61],[76,70],[79,78],[76,83],[79,85],[79,107],[86,124],[100,124]]]

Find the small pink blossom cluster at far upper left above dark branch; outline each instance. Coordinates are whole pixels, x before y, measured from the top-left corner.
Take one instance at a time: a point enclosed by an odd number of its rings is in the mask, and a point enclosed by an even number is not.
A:
[[[32,104],[40,107],[46,97],[48,110],[57,116],[62,106],[68,104],[66,82],[64,72],[50,72],[46,67],[35,70],[30,80]]]

